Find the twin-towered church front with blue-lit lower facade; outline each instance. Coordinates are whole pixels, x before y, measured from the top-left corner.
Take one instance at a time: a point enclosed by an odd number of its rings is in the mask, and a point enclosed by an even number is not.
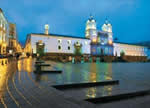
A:
[[[86,23],[85,36],[91,39],[92,56],[113,56],[112,26],[105,21],[102,30],[97,30],[96,20],[90,17]]]

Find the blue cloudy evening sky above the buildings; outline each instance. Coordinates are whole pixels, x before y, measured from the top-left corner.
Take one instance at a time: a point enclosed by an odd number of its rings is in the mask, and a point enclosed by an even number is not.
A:
[[[150,0],[0,0],[0,8],[9,22],[15,23],[19,41],[27,34],[50,33],[85,35],[90,14],[101,30],[107,18],[113,37],[126,43],[150,41]]]

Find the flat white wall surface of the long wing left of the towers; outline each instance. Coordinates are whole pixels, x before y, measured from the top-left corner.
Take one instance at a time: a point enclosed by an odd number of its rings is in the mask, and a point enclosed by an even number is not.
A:
[[[58,39],[61,39],[61,43],[58,43]],[[33,53],[36,53],[36,42],[42,40],[45,43],[45,52],[48,53],[74,53],[74,43],[79,41],[82,44],[82,53],[90,54],[90,40],[80,39],[80,38],[70,38],[70,37],[60,37],[60,36],[46,36],[46,35],[36,35],[31,34],[31,46]],[[71,44],[68,44],[68,40],[71,41]],[[86,44],[87,43],[87,44]],[[61,46],[61,50],[58,49],[58,46]],[[68,50],[70,46],[70,50]]]

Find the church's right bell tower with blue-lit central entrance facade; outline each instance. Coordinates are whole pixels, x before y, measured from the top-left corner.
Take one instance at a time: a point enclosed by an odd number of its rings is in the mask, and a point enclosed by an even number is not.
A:
[[[102,31],[97,30],[94,41],[91,41],[92,56],[113,56],[112,26],[105,21]]]

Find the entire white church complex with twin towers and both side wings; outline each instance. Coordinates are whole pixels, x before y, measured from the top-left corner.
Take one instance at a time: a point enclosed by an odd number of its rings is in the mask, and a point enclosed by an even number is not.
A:
[[[49,33],[49,25],[45,25],[45,33],[31,33],[27,36],[25,52],[30,54],[46,53],[49,55],[82,55],[82,56],[144,56],[148,48],[125,43],[113,42],[111,23],[106,20],[101,30],[97,29],[93,16],[86,22],[85,37],[58,35]]]

